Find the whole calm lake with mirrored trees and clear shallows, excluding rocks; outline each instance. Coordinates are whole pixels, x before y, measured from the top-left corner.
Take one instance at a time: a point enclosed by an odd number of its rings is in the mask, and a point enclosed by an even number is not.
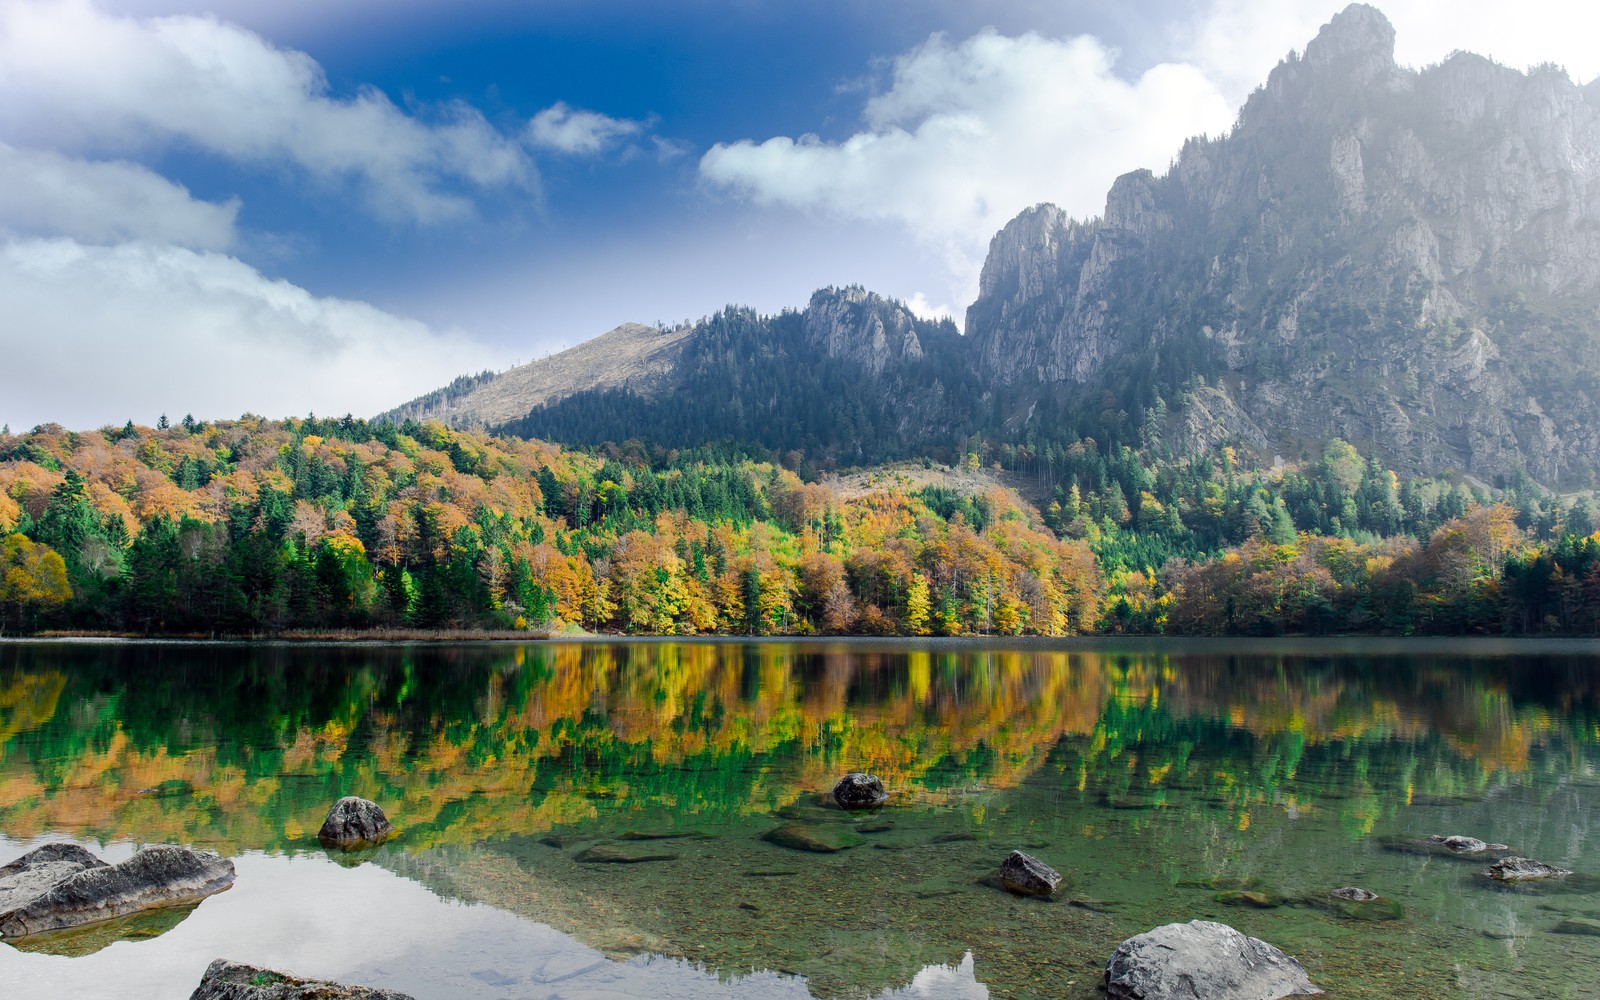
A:
[[[1600,936],[1555,933],[1600,922],[1597,765],[1582,642],[0,642],[0,864],[238,869],[0,946],[0,995],[181,1000],[227,957],[419,998],[1094,998],[1118,941],[1213,918],[1341,998],[1600,997]],[[830,805],[854,770],[885,808]],[[400,835],[320,848],[347,794]],[[1432,834],[1576,874],[1507,888]],[[997,888],[1013,848],[1056,898]]]

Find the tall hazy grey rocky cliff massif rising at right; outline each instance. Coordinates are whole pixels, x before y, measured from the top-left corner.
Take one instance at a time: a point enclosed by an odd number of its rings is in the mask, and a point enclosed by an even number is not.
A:
[[[1182,394],[1198,370],[1230,397],[1200,438],[1338,435],[1408,470],[1589,483],[1600,86],[1470,54],[1400,67],[1384,16],[1352,5],[1230,134],[1120,178],[1101,219],[1011,221],[966,333],[1018,397]]]

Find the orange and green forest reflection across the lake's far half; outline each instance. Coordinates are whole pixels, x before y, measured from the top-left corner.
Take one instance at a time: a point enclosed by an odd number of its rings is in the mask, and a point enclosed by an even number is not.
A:
[[[1090,802],[1203,790],[1240,814],[1354,782],[1341,810],[1358,834],[1414,797],[1592,768],[1589,662],[1176,645],[3,645],[0,829],[296,850],[334,797],[360,794],[421,848],[606,813],[738,819],[861,768],[926,803],[1037,776]]]

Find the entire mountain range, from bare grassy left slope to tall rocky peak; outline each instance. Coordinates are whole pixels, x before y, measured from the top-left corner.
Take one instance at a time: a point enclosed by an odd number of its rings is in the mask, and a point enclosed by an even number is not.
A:
[[[861,288],[627,326],[402,416],[568,442],[835,461],[1082,437],[1262,459],[1341,437],[1405,472],[1595,485],[1600,82],[1454,54],[1410,69],[1339,13],[1106,213],[990,243],[965,336]]]

